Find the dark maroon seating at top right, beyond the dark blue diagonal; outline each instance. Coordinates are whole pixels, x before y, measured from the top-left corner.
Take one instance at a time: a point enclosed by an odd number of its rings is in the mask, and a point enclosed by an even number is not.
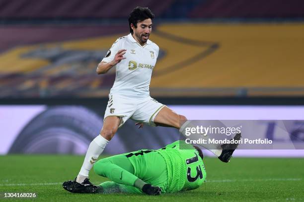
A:
[[[191,18],[300,18],[303,0],[205,0],[196,6]]]

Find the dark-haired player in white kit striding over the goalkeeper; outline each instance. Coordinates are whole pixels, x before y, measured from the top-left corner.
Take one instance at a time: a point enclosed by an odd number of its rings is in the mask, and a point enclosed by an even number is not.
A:
[[[165,126],[180,129],[187,119],[150,97],[149,85],[159,47],[149,40],[154,14],[147,7],[136,7],[129,16],[130,34],[117,39],[101,62],[97,73],[116,69],[116,78],[109,94],[103,127],[91,142],[75,186],[91,185],[88,174],[107,143],[129,118],[137,125]],[[220,153],[219,153],[220,154]],[[136,182],[139,187],[145,182]]]

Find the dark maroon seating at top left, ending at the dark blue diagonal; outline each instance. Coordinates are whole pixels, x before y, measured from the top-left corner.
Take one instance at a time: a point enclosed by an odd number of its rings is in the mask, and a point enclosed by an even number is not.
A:
[[[163,13],[174,0],[1,0],[3,19],[126,18],[138,6],[150,7],[156,15]]]

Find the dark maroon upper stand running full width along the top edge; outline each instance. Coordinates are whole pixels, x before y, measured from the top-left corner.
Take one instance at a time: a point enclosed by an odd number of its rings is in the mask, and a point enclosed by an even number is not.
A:
[[[303,0],[1,0],[2,19],[125,19],[138,5],[160,18],[300,18]]]

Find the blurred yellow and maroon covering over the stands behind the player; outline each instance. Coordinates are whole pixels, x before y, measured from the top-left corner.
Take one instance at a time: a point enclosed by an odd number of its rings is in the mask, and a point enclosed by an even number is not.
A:
[[[1,97],[36,97],[41,88],[45,96],[106,96],[115,71],[98,76],[95,68],[116,38],[127,34],[126,27],[116,28],[18,28],[18,46],[9,31],[2,32],[11,40],[0,54]],[[229,88],[264,88],[258,94],[269,95],[269,88],[300,88],[302,33],[304,26],[296,23],[160,24],[151,36],[160,47],[152,93],[231,95]]]

